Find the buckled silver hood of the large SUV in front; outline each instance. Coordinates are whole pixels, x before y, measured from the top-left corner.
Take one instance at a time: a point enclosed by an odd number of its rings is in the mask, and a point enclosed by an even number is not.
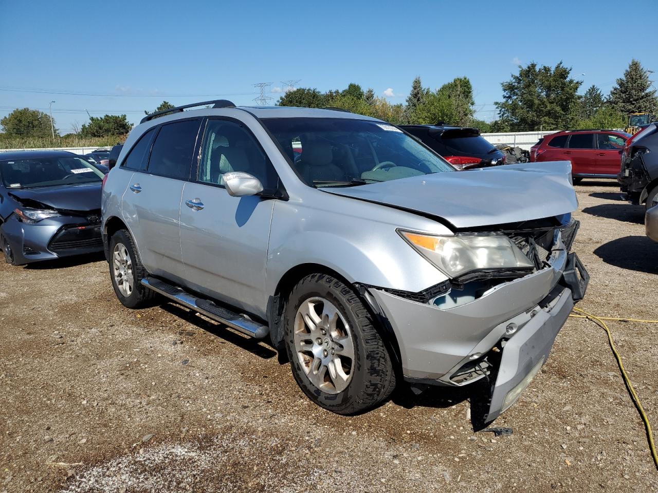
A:
[[[578,207],[569,161],[507,164],[324,191],[439,216],[457,229],[560,216]]]

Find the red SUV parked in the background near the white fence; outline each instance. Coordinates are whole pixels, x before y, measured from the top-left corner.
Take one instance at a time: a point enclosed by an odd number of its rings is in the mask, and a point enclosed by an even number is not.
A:
[[[570,161],[574,183],[617,178],[630,134],[617,130],[570,130],[546,135],[530,148],[530,161]]]

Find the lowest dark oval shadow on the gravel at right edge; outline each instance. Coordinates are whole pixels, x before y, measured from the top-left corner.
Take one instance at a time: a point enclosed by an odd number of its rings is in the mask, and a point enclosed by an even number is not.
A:
[[[658,274],[658,243],[645,236],[626,236],[609,241],[594,250],[594,254],[611,266]]]

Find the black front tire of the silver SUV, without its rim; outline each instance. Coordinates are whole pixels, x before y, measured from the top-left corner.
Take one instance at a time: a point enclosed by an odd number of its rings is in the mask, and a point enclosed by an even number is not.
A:
[[[309,298],[330,301],[350,327],[354,359],[351,378],[342,391],[328,393],[311,382],[295,349],[294,325],[297,310]],[[307,275],[290,292],[284,306],[284,343],[292,374],[299,388],[318,406],[342,415],[374,408],[395,389],[396,375],[392,358],[374,326],[370,313],[350,287],[330,275]]]

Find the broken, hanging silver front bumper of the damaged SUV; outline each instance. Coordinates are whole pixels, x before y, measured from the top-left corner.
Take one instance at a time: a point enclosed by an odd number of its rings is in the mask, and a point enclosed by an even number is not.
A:
[[[549,263],[549,268],[448,309],[370,289],[376,310],[395,333],[405,379],[468,385],[495,374],[486,360],[498,348],[501,358],[487,417],[495,419],[542,367],[574,302],[586,291],[589,276],[575,254],[555,250]]]

